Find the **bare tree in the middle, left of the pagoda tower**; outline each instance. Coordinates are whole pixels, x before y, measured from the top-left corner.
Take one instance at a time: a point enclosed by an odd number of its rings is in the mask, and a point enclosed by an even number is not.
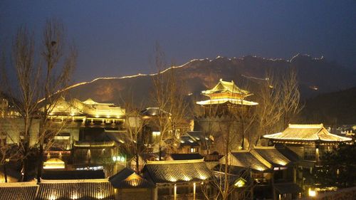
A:
[[[177,125],[184,121],[187,102],[184,99],[182,83],[177,80],[174,68],[162,71],[165,67],[164,53],[156,45],[155,63],[157,74],[152,76],[154,83],[153,103],[158,108],[157,127],[159,128],[159,159],[162,158],[162,148],[174,148],[181,132],[177,132]]]

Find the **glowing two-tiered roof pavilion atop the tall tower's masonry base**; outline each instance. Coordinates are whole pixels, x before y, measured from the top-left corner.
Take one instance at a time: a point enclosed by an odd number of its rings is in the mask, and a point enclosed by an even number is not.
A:
[[[209,97],[209,100],[198,101],[198,105],[204,106],[205,115],[214,112],[214,115],[229,115],[229,113],[238,107],[258,105],[257,102],[245,100],[253,93],[242,90],[237,87],[233,80],[231,82],[219,80],[219,83],[210,90],[204,90],[202,95]]]

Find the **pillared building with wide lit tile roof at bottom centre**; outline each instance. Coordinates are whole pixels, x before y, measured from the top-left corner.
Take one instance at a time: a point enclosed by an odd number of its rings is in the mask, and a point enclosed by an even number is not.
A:
[[[158,199],[204,199],[200,184],[211,177],[204,159],[147,161],[142,172],[157,186]]]

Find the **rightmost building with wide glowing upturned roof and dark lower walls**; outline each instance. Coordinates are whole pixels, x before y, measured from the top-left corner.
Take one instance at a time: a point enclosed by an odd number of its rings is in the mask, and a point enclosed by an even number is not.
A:
[[[351,143],[349,137],[334,135],[320,125],[288,125],[286,130],[264,138],[284,152],[292,151],[300,159],[297,164],[297,182],[304,191],[313,187],[313,172],[323,165],[323,155],[333,151],[333,147],[341,143]]]

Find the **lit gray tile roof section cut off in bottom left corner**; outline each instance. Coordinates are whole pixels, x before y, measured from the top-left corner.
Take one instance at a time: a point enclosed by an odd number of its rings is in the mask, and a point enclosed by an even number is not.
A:
[[[34,183],[4,183],[0,184],[0,199],[35,200],[38,186]]]

